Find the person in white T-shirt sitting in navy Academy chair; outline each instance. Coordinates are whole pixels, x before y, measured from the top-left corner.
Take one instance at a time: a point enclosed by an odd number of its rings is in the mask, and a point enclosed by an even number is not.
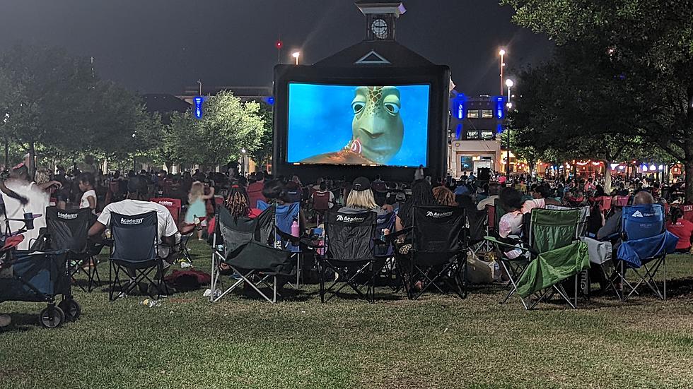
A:
[[[157,223],[157,242],[158,255],[164,259],[165,270],[173,263],[175,253],[170,249],[170,246],[180,241],[180,234],[173,221],[173,216],[163,205],[147,201],[147,183],[139,176],[133,176],[127,181],[127,198],[123,201],[110,203],[103,208],[103,212],[98,217],[93,226],[89,229],[89,236],[95,237],[101,234],[106,226],[110,226],[111,213],[119,213],[120,215],[140,215],[156,211]],[[164,273],[165,273],[164,270]],[[131,277],[134,272],[130,273]],[[156,279],[163,275],[156,275]],[[143,291],[144,292],[144,291]]]

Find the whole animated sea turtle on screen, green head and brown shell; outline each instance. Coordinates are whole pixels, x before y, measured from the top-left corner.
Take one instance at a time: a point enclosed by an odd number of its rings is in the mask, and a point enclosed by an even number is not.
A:
[[[301,162],[329,164],[388,164],[400,151],[404,123],[400,91],[393,86],[356,88],[351,108],[351,140],[343,150],[308,157]]]

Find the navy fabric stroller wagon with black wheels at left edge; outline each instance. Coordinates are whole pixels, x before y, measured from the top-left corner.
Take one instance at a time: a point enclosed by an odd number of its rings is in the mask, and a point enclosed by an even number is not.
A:
[[[24,239],[21,234],[33,229],[33,220],[41,215],[27,213],[23,219],[8,219],[4,214],[5,232],[0,236],[0,302],[46,302],[48,306],[39,316],[45,328],[56,328],[78,318],[81,308],[72,299],[67,251],[18,250]],[[24,227],[11,232],[11,221],[23,222]],[[62,301],[56,304],[58,295],[62,295]]]

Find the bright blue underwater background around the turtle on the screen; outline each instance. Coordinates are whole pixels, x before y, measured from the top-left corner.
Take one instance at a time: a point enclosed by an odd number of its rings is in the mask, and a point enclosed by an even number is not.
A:
[[[402,148],[388,165],[426,166],[429,85],[392,85],[400,90]],[[342,150],[351,140],[356,86],[289,84],[287,162]]]

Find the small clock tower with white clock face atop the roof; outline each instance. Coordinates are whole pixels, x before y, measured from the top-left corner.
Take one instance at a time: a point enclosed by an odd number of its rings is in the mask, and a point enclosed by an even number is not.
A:
[[[395,21],[407,10],[402,1],[356,1],[366,16],[366,40],[395,40]]]

